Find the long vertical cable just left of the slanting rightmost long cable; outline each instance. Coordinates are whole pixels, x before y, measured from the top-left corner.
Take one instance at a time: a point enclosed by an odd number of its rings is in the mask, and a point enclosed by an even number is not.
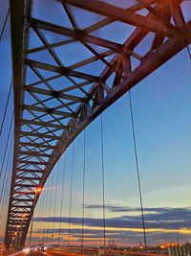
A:
[[[104,174],[104,147],[103,147],[103,115],[101,113],[101,178],[102,178],[102,208],[103,208],[103,245],[106,246],[105,222],[105,174]]]

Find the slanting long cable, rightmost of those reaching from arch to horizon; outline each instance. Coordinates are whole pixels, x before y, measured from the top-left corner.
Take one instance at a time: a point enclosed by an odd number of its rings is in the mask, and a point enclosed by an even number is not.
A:
[[[138,166],[137,139],[136,139],[136,130],[135,130],[135,123],[134,123],[134,110],[133,110],[133,103],[132,103],[132,97],[131,97],[131,91],[130,90],[129,90],[129,103],[130,103],[130,115],[131,115],[131,125],[132,125],[132,134],[133,134],[133,143],[134,143],[134,153],[135,153],[136,169],[137,169],[137,177],[138,177],[138,195],[139,195],[140,211],[141,211],[141,218],[142,218],[142,230],[143,230],[143,238],[144,238],[144,247],[145,247],[145,250],[147,250],[144,209],[143,209],[141,182],[140,182],[139,166]]]

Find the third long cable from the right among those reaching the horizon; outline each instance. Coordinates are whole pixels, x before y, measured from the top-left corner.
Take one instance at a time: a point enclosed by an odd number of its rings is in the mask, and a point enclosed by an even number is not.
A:
[[[81,246],[82,247],[84,245],[85,175],[86,175],[86,129],[84,129],[84,142],[83,142],[82,220],[81,220]]]

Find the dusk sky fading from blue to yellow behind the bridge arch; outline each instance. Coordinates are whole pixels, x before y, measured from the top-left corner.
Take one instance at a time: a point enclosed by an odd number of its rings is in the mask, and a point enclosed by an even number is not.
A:
[[[1,26],[8,10],[8,2],[0,0]],[[69,20],[65,18],[63,9],[60,10],[56,1],[35,0],[33,2],[32,15],[34,17],[43,17],[45,21],[55,24],[59,24],[63,18],[63,26],[70,28]],[[127,1],[108,0],[106,2],[113,4],[118,2],[119,6],[127,8],[125,4]],[[133,0],[129,1],[129,5],[134,3]],[[184,5],[184,10],[187,10],[185,18],[190,19],[191,3],[186,2]],[[45,10],[44,7],[46,7]],[[79,24],[81,22],[81,28],[102,18],[95,16],[95,20],[91,20],[89,13],[83,12],[82,14],[78,10],[74,10],[74,14]],[[107,34],[108,39],[115,41],[117,38],[117,41],[122,43],[133,29],[133,27],[116,22],[108,26],[108,31],[105,28],[104,33]],[[103,36],[103,31],[97,35]],[[47,38],[57,41],[56,36],[47,35]],[[29,45],[30,48],[40,45],[32,32]],[[141,53],[145,51],[145,48],[146,45],[140,45],[137,50]],[[57,54],[61,54],[64,47],[58,47],[56,51]],[[63,61],[71,65],[81,60],[82,54],[85,54],[83,49],[78,48],[77,43],[74,43],[62,55]],[[86,58],[88,57],[91,57],[91,54],[87,52]],[[31,58],[47,57],[43,53],[42,56],[33,55]],[[50,63],[52,61],[53,59],[50,58]],[[87,72],[90,68],[95,68],[95,72],[99,72],[98,64],[94,67],[87,67]],[[35,81],[30,72],[27,81]],[[0,42],[0,99],[7,97],[10,83],[11,38],[10,24],[8,24]],[[187,50],[184,49],[132,89],[148,244],[162,244],[177,239],[180,243],[191,241],[190,85],[191,59]],[[5,101],[1,101],[0,111],[3,111],[4,107]],[[11,119],[11,106],[9,119]],[[81,239],[83,136],[82,132],[74,141],[71,236],[75,244],[80,244]],[[107,241],[113,241],[115,244],[143,243],[128,94],[104,111],[103,138]],[[84,237],[87,244],[88,242],[89,244],[102,243],[100,242],[103,232],[100,140],[99,116],[86,128]],[[67,239],[72,148],[73,145],[67,149],[65,156],[64,154],[61,156],[38,201],[34,214],[33,236],[41,238],[39,242],[46,241],[47,229],[50,230],[49,243],[53,243],[54,238],[57,241],[60,228],[63,243]],[[0,151],[0,157],[2,158],[2,151]],[[63,184],[64,157],[66,157],[66,172]],[[60,212],[61,200],[63,209]],[[1,230],[1,236],[3,232]],[[51,238],[52,234],[53,238]]]

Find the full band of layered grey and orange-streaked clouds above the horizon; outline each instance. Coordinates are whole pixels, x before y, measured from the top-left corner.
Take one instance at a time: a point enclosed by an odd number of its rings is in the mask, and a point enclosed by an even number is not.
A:
[[[86,205],[88,209],[101,209],[101,205]],[[111,212],[122,213],[121,216],[106,219],[106,238],[115,243],[138,244],[143,243],[142,221],[140,209],[138,207],[106,205],[106,209]],[[148,244],[160,244],[164,241],[186,243],[191,238],[191,208],[145,208],[145,225]],[[68,217],[34,218],[34,221],[61,222],[67,224]],[[71,228],[71,236],[75,241],[81,240],[81,218],[72,217],[71,224],[76,225]],[[79,227],[79,228],[78,228]],[[110,229],[109,229],[110,228]],[[128,229],[129,228],[129,229]],[[66,242],[68,228],[54,228],[36,230],[37,233],[60,233],[62,241]],[[97,243],[103,239],[103,219],[85,218],[84,239],[89,243]]]

